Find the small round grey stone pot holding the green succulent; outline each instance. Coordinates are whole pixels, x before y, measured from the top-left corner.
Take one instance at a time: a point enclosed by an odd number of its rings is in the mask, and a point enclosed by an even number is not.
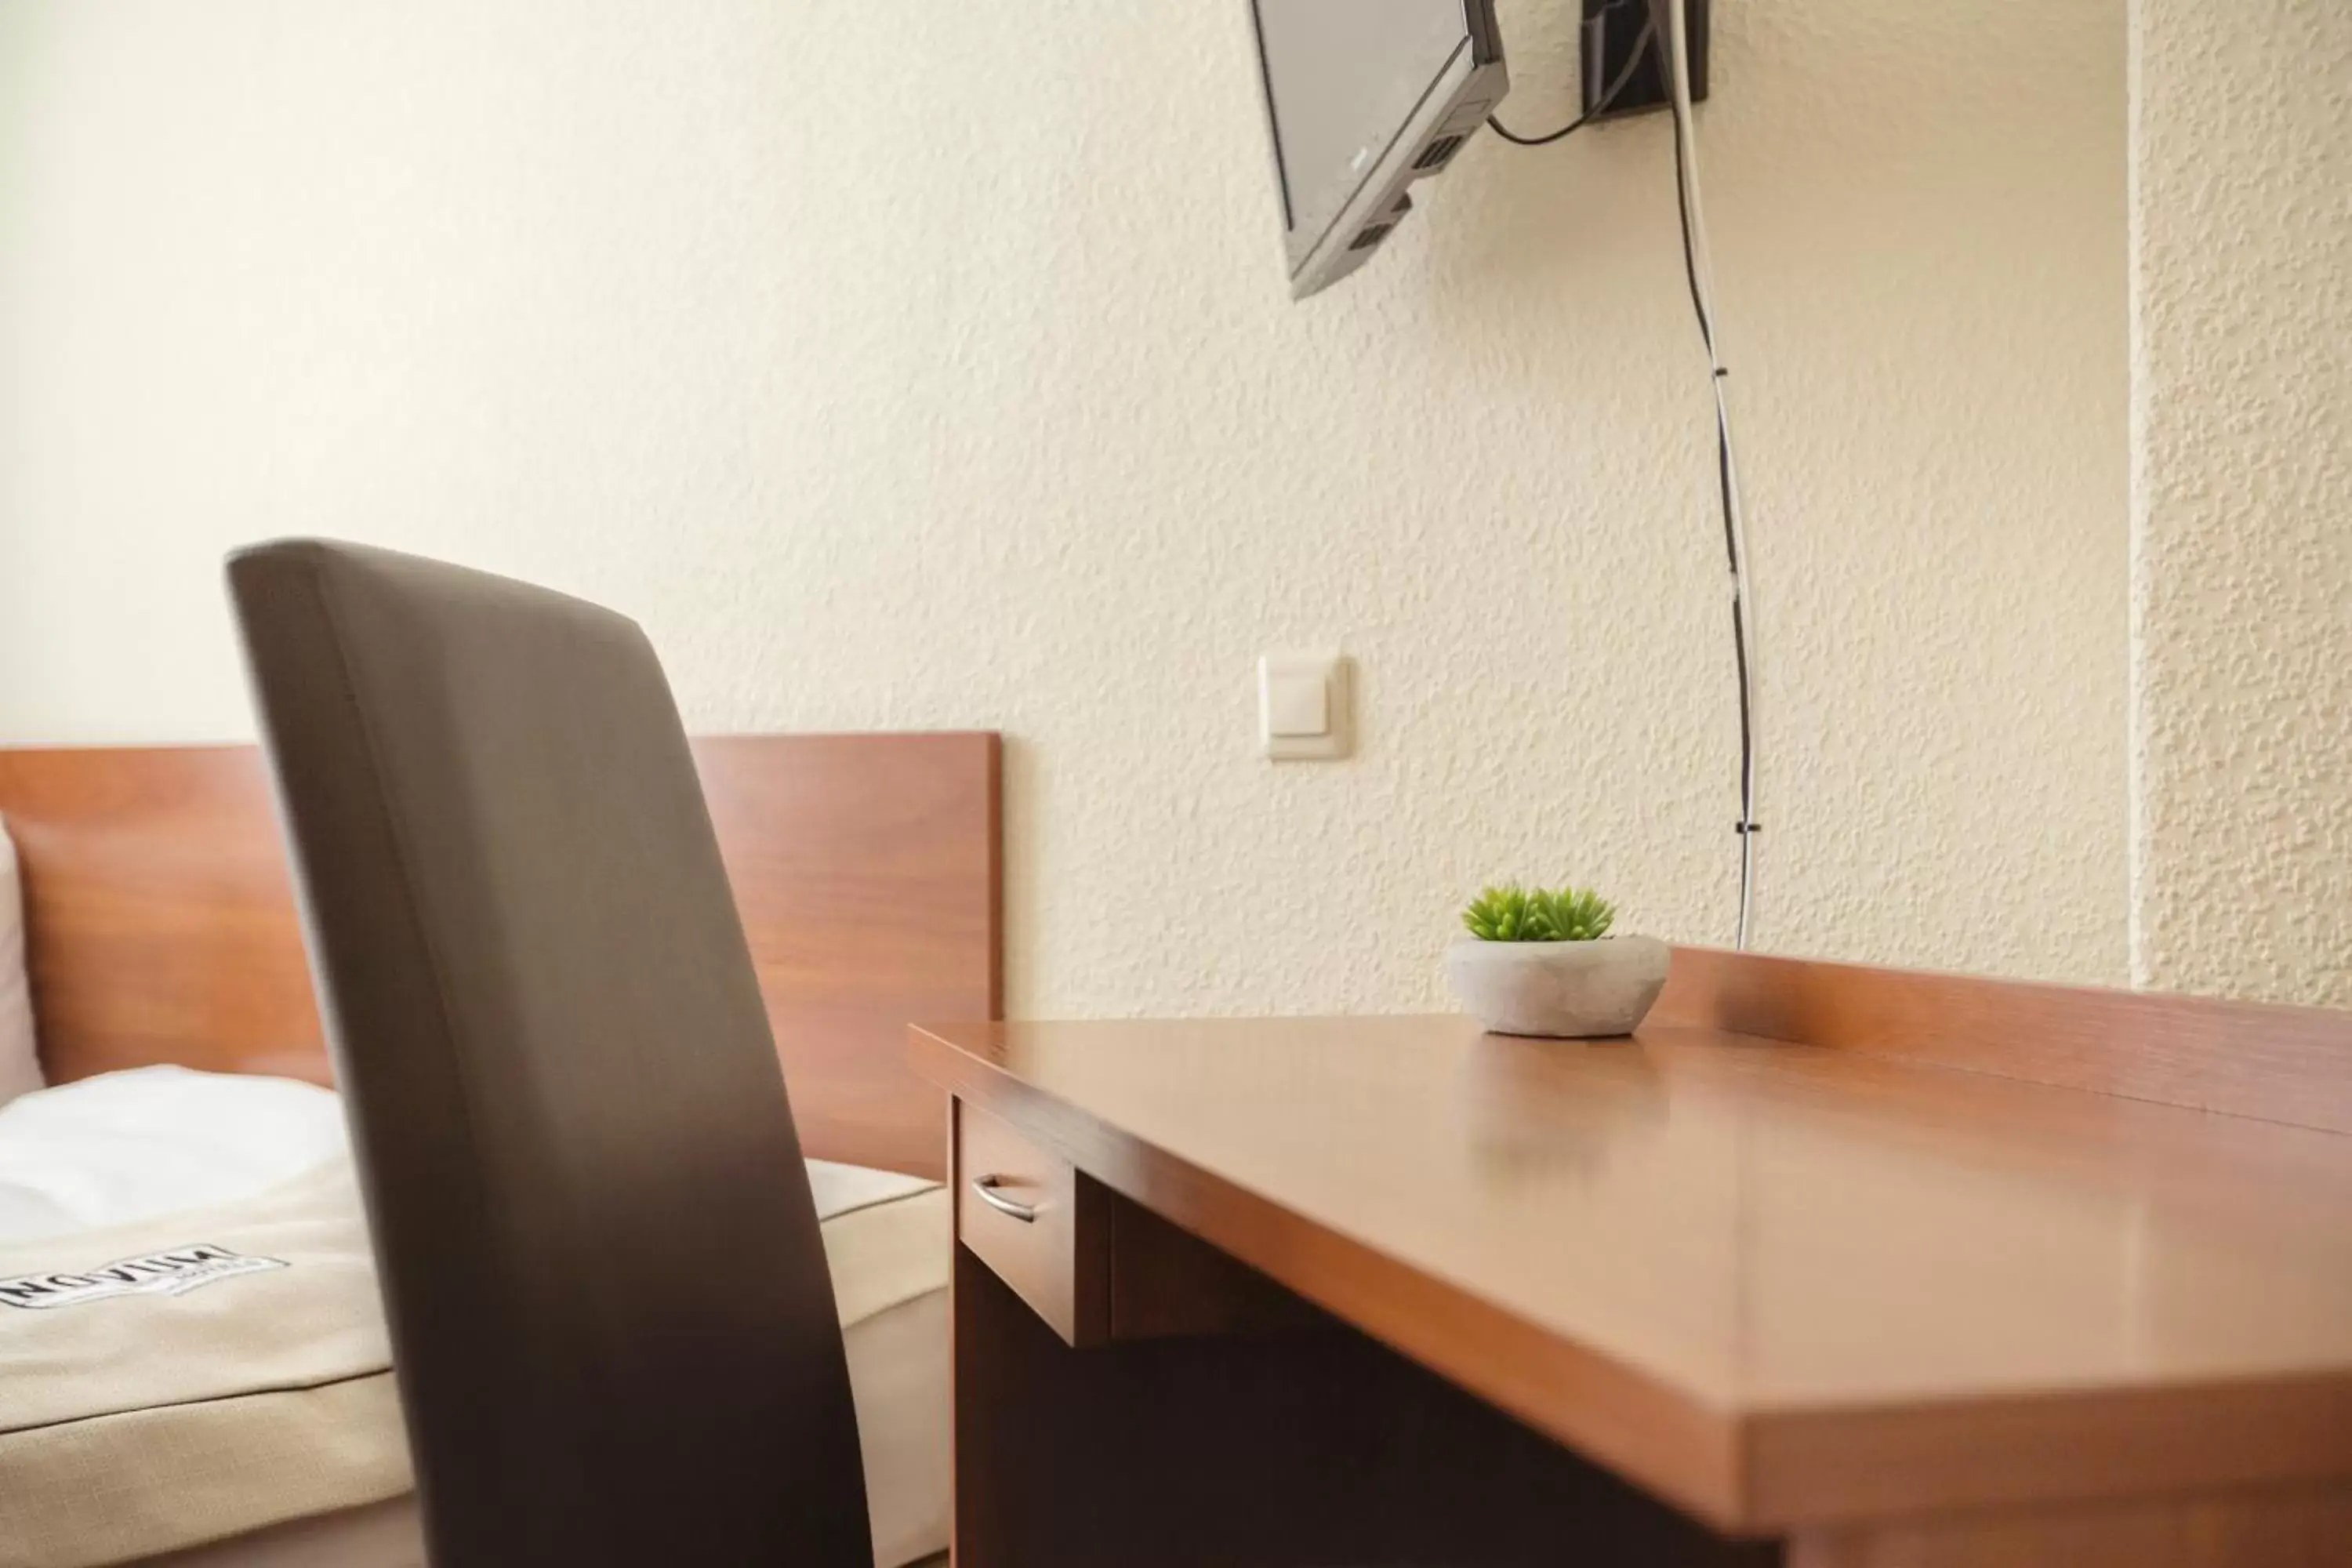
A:
[[[1632,1034],[1665,990],[1668,945],[1653,936],[1595,943],[1482,943],[1446,950],[1463,1011],[1496,1034]]]

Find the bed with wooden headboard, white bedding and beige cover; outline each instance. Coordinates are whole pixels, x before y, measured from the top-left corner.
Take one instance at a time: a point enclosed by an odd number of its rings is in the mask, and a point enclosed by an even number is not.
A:
[[[915,1561],[946,1544],[948,1218],[943,1105],[903,1025],[1000,1016],[1000,745],[729,736],[696,762],[828,1215],[877,1561]],[[0,823],[52,1086],[0,1105],[0,1568],[421,1563],[259,755],[0,750]],[[296,1274],[343,1295],[263,1305]],[[275,1333],[226,1371],[125,1349],[238,1314]],[[223,1410],[252,1436],[205,1439]]]

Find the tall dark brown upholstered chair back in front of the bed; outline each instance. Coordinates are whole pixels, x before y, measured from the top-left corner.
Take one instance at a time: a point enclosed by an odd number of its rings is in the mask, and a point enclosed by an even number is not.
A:
[[[228,564],[440,1568],[868,1568],[767,1013],[633,621]]]

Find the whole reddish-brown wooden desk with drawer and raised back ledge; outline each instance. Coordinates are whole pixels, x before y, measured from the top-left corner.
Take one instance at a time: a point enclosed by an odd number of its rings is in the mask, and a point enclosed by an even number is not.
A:
[[[2352,1563],[2352,1018],[1703,952],[1653,1018],[917,1030],[962,1568]]]

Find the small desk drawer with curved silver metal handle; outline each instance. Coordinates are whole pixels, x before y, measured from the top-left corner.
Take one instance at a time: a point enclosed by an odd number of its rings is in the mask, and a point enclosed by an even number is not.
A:
[[[1110,1319],[1110,1194],[962,1100],[955,1178],[955,1237],[1063,1340],[1101,1345]]]

